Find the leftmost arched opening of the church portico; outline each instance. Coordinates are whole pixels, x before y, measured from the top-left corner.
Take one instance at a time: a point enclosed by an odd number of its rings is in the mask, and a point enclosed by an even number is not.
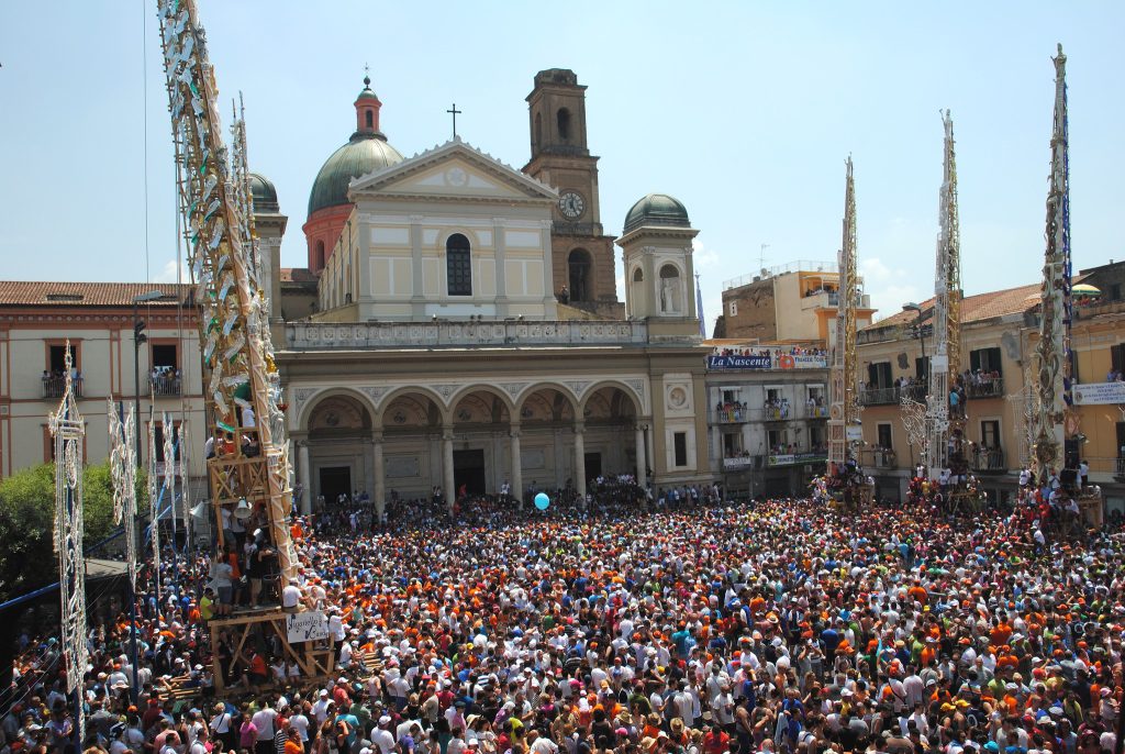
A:
[[[313,493],[332,506],[370,495],[371,413],[351,395],[328,395],[308,414]]]

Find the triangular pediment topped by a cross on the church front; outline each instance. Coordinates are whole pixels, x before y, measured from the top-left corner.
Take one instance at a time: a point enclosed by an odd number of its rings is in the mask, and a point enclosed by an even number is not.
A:
[[[363,197],[448,197],[501,201],[555,201],[546,183],[465,144],[448,142],[403,162],[354,179],[349,192]]]

